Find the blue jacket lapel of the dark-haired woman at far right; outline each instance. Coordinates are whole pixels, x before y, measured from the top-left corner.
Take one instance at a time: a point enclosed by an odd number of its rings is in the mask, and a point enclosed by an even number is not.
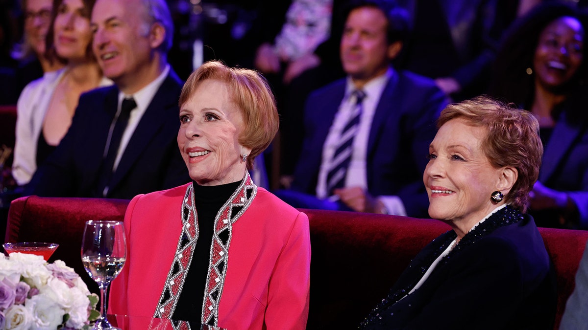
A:
[[[574,141],[582,134],[582,127],[583,123],[574,126],[567,124],[565,113],[562,113],[545,147],[539,181],[546,183],[553,176]]]

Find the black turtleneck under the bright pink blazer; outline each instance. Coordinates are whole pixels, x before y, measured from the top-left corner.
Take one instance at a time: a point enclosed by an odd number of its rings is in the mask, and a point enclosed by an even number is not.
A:
[[[239,187],[241,181],[221,184],[219,186],[199,186],[195,181],[194,206],[198,217],[198,241],[192,255],[192,262],[182,292],[178,299],[178,305],[173,312],[175,320],[191,321],[200,324],[202,321],[202,302],[208,276],[208,264],[210,261],[212,236],[216,214],[220,207],[229,200],[229,197]]]

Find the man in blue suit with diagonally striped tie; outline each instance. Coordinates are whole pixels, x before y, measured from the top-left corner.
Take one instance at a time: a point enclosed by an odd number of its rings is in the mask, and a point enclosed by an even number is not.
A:
[[[292,190],[278,194],[295,207],[426,217],[422,175],[446,96],[390,66],[408,33],[405,12],[376,1],[350,8],[340,43],[347,78],[309,96]]]

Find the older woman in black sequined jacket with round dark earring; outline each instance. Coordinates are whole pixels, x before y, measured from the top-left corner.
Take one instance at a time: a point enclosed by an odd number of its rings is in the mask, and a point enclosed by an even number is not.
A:
[[[537,120],[478,97],[447,106],[437,125],[423,181],[429,215],[453,230],[416,256],[362,328],[553,328],[549,255],[524,214],[543,153]]]

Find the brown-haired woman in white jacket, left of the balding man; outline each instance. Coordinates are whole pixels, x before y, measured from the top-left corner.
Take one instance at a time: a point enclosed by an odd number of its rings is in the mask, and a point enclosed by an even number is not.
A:
[[[95,0],[57,0],[46,37],[46,57],[65,63],[29,83],[17,103],[12,175],[19,185],[58,146],[69,129],[81,93],[111,85],[92,53],[90,14]]]

